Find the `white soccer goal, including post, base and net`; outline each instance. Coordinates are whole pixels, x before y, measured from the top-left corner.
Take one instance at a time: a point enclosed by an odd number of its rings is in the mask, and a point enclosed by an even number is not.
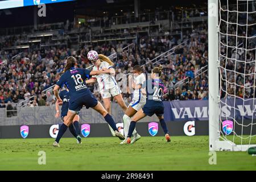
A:
[[[210,150],[256,146],[255,8],[253,0],[208,1]]]

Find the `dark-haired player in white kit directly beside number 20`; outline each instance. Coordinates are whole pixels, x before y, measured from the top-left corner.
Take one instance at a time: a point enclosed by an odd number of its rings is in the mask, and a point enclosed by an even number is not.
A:
[[[146,81],[146,77],[143,73],[143,69],[139,65],[135,65],[133,68],[133,76],[129,76],[129,82],[132,82],[133,91],[133,101],[130,103],[129,107],[125,111],[125,115],[123,115],[123,130],[125,130],[125,137],[127,139],[129,126],[131,122],[131,117],[139,109],[141,109],[146,104],[146,92],[142,89],[142,84]],[[133,77],[135,77],[133,79]],[[141,135],[137,133],[134,129],[133,131],[133,139],[131,143],[136,142],[141,138]],[[120,144],[126,143],[126,139],[123,140]]]

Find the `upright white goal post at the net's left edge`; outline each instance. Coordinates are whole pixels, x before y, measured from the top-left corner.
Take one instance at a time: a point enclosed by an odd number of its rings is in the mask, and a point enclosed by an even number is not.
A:
[[[218,133],[218,0],[208,0],[209,150],[216,150]]]

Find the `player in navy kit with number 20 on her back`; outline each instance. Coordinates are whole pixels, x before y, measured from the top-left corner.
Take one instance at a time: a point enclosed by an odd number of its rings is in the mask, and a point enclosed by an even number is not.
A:
[[[163,90],[164,90],[164,84],[159,79],[159,76],[162,73],[162,65],[159,67],[156,67],[152,69],[151,72],[151,78],[147,79],[145,84],[146,90],[147,90],[147,101],[146,104],[143,106],[142,109],[140,109],[134,116],[133,121],[130,123],[129,127],[129,133],[127,135],[126,143],[131,143],[131,135],[133,134],[133,131],[135,129],[136,122],[138,122],[140,119],[148,116],[152,116],[156,114],[156,116],[159,119],[160,125],[163,128],[166,141],[171,142],[170,135],[168,134],[168,129],[166,126],[166,122],[164,121],[164,105],[163,105]],[[143,85],[143,86],[144,86]]]

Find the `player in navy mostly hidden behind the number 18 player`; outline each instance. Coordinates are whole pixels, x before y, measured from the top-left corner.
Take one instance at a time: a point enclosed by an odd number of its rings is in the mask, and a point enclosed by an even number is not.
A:
[[[64,120],[67,118],[67,113],[68,113],[68,106],[69,106],[69,92],[68,89],[66,88],[65,90],[62,90],[59,93],[59,96],[61,100],[63,100],[63,104],[61,106],[61,112],[59,109],[59,104],[55,104],[55,109],[56,109],[56,114],[55,118],[61,117],[61,120],[64,122]],[[79,127],[79,115],[76,114],[75,118],[73,119],[73,123],[68,127],[69,131],[72,133],[72,135],[77,139],[77,143],[82,143],[82,138],[80,137],[81,132],[80,132],[80,127]],[[74,128],[75,126],[75,128]]]

